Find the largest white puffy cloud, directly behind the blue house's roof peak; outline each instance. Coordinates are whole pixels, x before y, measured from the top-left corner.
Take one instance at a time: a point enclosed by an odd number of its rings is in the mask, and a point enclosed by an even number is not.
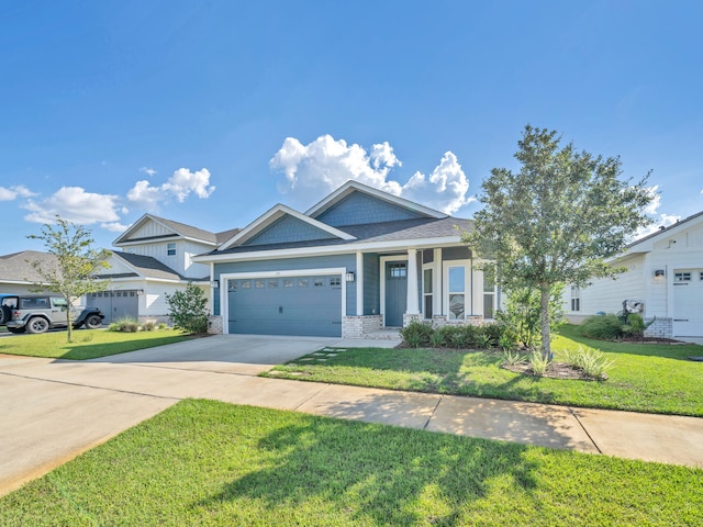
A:
[[[447,214],[472,201],[466,197],[469,181],[450,152],[444,155],[428,178],[415,172],[404,186],[388,179],[391,169],[402,166],[388,143],[372,145],[369,153],[357,144],[335,141],[331,135],[322,135],[308,145],[287,137],[269,166],[286,176],[279,191],[299,203],[310,204],[311,195],[321,198],[349,179]]]

